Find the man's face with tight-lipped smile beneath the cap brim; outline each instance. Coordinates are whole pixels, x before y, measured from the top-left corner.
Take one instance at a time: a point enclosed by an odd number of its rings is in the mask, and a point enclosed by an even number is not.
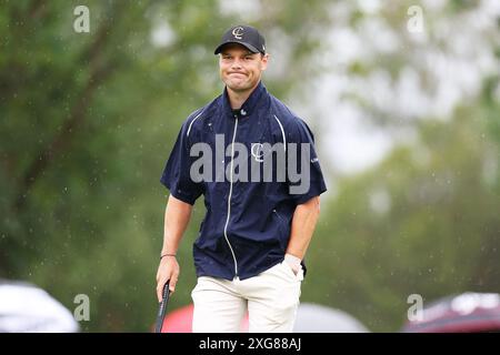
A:
[[[252,53],[241,44],[227,44],[219,58],[220,78],[234,92],[252,90],[268,67],[268,54]]]

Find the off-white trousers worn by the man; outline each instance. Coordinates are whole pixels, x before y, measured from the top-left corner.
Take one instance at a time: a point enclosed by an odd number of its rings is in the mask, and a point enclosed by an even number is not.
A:
[[[238,333],[246,312],[250,333],[290,333],[299,306],[302,270],[282,262],[254,277],[198,277],[191,293],[194,333]]]

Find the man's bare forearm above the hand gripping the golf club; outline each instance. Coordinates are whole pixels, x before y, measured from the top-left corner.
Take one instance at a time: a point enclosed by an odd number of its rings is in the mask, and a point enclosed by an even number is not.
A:
[[[191,219],[192,205],[172,195],[164,210],[163,247],[161,254],[176,254]]]

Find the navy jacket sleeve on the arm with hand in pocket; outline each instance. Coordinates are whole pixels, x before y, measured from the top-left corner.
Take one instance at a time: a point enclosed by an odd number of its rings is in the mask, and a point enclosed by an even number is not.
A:
[[[296,204],[306,203],[327,191],[314,136],[306,122],[297,119],[287,142],[288,187]]]

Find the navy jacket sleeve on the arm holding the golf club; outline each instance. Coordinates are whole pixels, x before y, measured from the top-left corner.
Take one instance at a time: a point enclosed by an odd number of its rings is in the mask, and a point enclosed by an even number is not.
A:
[[[192,205],[203,193],[203,183],[194,182],[190,176],[192,158],[189,154],[189,122],[184,122],[177,136],[160,182],[172,196]]]

